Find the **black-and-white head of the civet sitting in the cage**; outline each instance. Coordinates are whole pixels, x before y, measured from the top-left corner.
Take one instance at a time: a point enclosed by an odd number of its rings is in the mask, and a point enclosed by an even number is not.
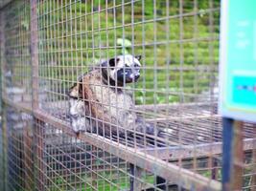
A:
[[[140,77],[140,60],[141,55],[118,55],[110,58],[102,64],[102,71],[105,79],[109,79],[110,83],[123,85],[138,80]]]

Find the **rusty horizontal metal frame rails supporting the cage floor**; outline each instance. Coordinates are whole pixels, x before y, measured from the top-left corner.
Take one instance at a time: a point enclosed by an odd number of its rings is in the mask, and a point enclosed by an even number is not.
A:
[[[20,111],[25,111],[27,113],[33,113],[35,118],[40,119],[41,121],[47,121],[52,126],[57,129],[65,132],[65,134],[77,138],[77,135],[73,132],[73,130],[69,127],[69,124],[61,121],[56,117],[52,117],[50,115],[46,115],[45,112],[40,111],[39,109],[32,111],[28,105],[15,104],[12,103],[10,99],[4,97],[4,102],[8,105],[11,105],[13,108],[16,108]],[[158,148],[158,149],[146,149],[146,150],[138,150],[134,148],[123,146],[115,141],[109,140],[107,138],[103,138],[100,136],[96,136],[93,134],[83,134],[78,137],[79,139],[89,142],[95,147],[101,148],[106,152],[113,154],[121,159],[126,159],[130,163],[136,163],[137,167],[142,169],[153,171],[157,175],[165,177],[166,180],[170,180],[173,182],[179,182],[180,180],[184,180],[185,184],[182,184],[187,189],[196,188],[197,190],[210,189],[210,190],[221,190],[221,182],[217,180],[209,180],[203,176],[196,175],[195,173],[177,167],[175,164],[164,162],[162,159],[180,159],[180,158],[193,158],[193,157],[204,157],[207,152],[203,152],[203,150],[213,152],[213,155],[221,154],[221,142],[209,143],[198,145],[196,148],[201,150],[196,154],[191,152],[191,149],[195,149],[195,146],[181,146],[176,148]],[[254,148],[255,138],[248,138],[244,140],[244,150],[251,150]],[[158,156],[156,159],[153,157],[155,152]],[[170,156],[172,155],[172,156]],[[155,171],[157,169],[157,171]],[[179,172],[182,175],[176,176],[175,173]]]

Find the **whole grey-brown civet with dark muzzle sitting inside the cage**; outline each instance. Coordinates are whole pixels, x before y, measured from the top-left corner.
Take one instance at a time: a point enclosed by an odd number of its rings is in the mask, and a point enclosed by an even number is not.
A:
[[[141,56],[118,55],[79,77],[69,91],[71,126],[76,133],[163,137],[161,130],[136,115],[132,96],[124,89],[127,83],[138,80],[140,59]]]

